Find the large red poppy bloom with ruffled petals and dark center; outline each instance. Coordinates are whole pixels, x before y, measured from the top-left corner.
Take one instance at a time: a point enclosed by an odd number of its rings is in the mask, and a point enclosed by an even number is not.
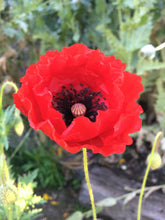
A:
[[[132,143],[128,135],[141,128],[142,113],[141,77],[125,67],[83,44],[48,51],[27,69],[15,105],[31,127],[71,153],[83,147],[121,153]]]

